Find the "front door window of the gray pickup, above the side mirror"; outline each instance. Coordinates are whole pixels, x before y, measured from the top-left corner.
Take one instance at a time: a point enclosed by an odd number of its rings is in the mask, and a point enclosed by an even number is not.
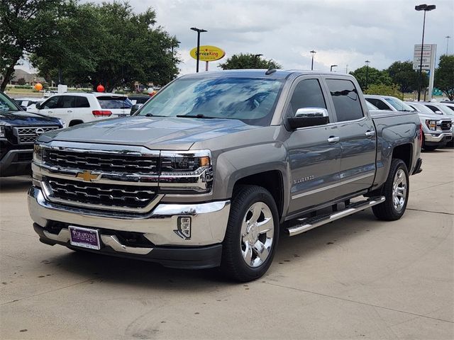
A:
[[[295,87],[289,110],[292,117],[299,108],[326,108],[325,98],[317,79],[305,79]]]

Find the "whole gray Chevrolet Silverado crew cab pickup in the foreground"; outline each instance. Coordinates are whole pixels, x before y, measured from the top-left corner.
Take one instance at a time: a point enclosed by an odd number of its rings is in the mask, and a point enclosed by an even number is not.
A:
[[[371,117],[347,74],[206,72],[132,117],[41,135],[28,206],[45,244],[248,281],[281,231],[402,217],[420,152],[418,115]]]

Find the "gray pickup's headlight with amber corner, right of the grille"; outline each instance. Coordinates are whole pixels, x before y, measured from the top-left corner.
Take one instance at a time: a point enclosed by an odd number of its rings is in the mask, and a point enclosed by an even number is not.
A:
[[[161,152],[160,189],[163,193],[207,193],[213,185],[209,150]]]

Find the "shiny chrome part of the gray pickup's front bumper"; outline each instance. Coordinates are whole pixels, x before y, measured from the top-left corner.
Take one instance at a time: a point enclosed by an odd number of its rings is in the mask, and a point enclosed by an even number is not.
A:
[[[78,208],[55,205],[45,200],[43,191],[33,186],[28,191],[28,210],[33,222],[45,227],[48,221],[63,222],[84,227],[119,230],[124,232],[141,232],[156,246],[206,246],[219,244],[226,234],[230,200],[199,204],[158,204],[146,217],[105,217],[96,212],[87,212]],[[190,239],[183,239],[177,233],[177,219],[180,216],[192,217]],[[47,233],[46,237],[59,242],[69,241],[69,234]],[[101,238],[116,251],[132,252],[125,249],[117,240]],[[151,248],[147,248],[152,250]],[[146,249],[139,250],[141,254]]]

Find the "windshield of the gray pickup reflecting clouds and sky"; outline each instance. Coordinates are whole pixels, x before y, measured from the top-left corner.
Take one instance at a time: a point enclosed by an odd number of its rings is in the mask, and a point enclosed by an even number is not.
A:
[[[282,79],[180,78],[158,92],[138,115],[238,119],[270,125]]]

